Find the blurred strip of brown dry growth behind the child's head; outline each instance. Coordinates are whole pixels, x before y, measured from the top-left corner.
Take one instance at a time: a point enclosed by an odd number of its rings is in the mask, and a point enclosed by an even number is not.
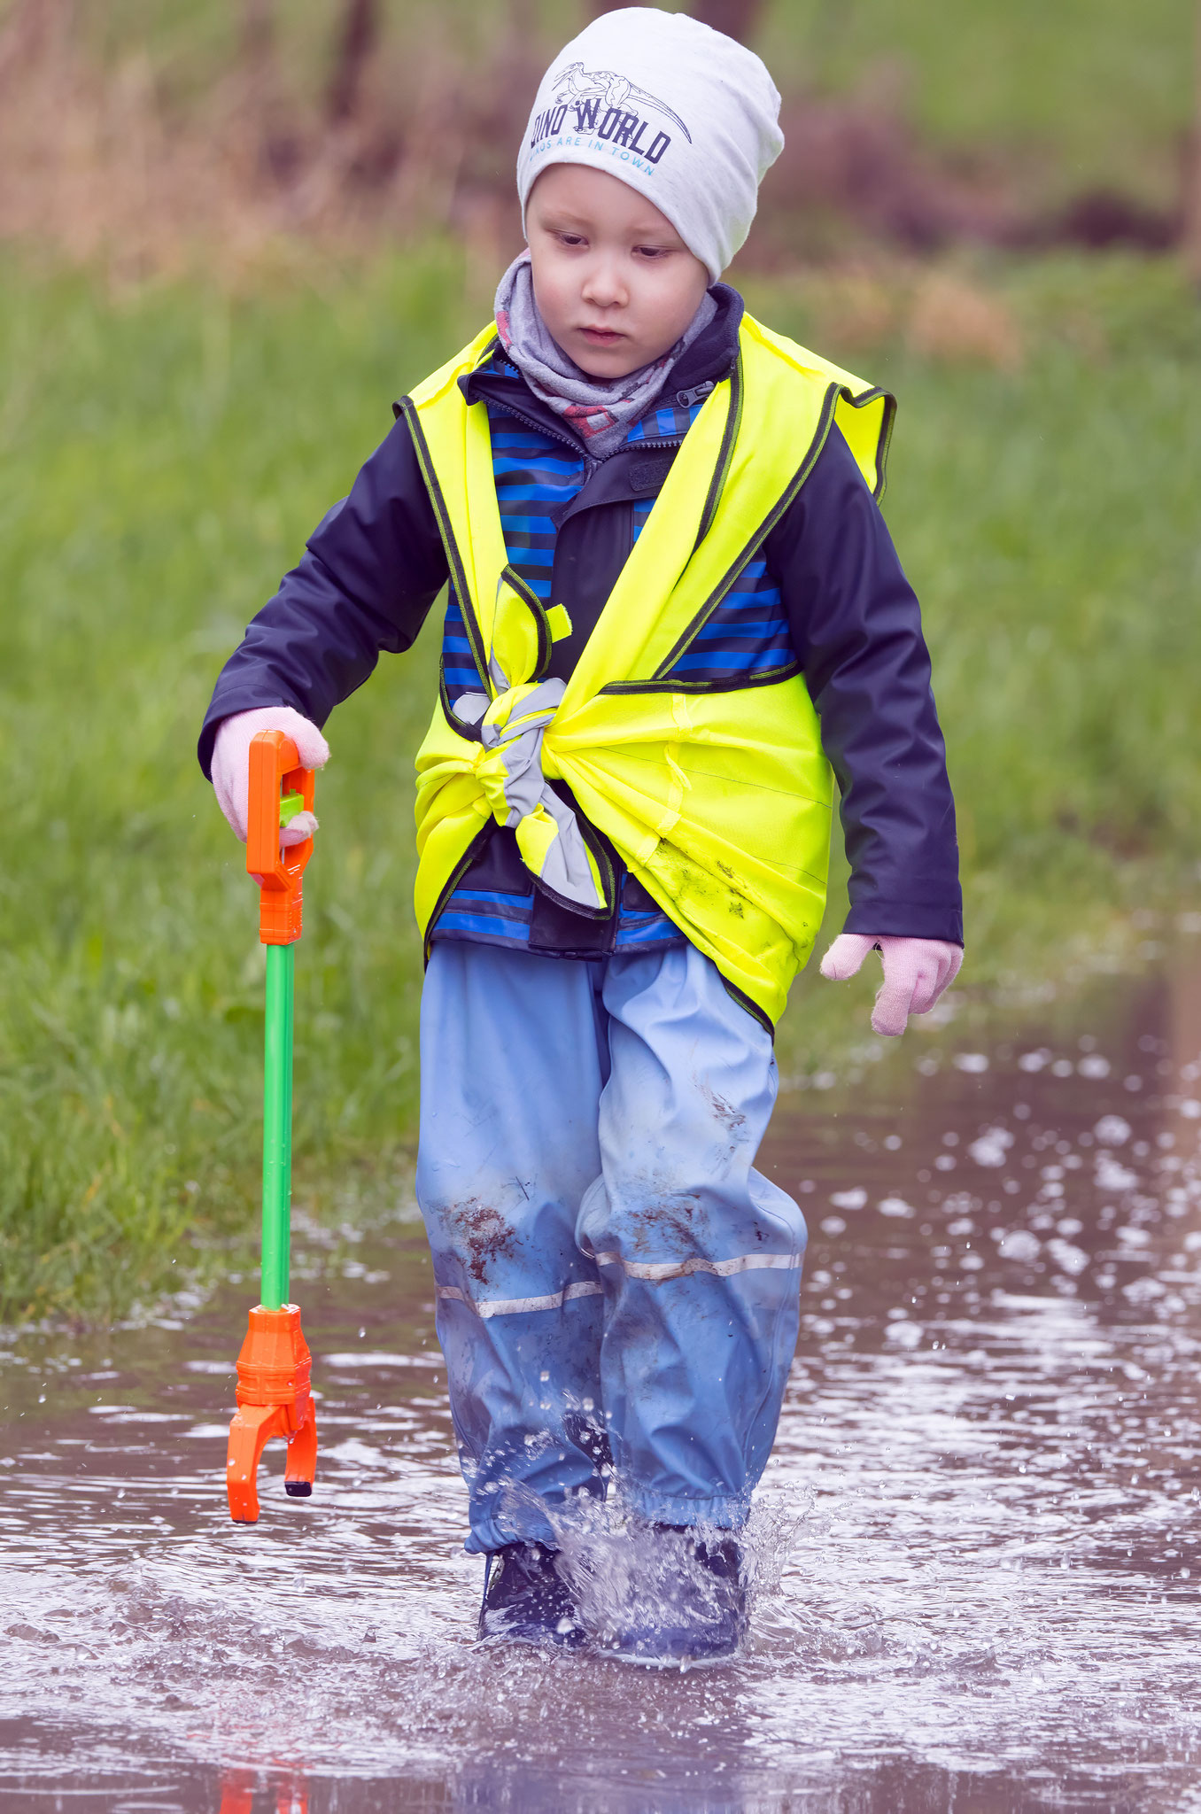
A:
[[[513,154],[550,51],[521,0],[512,15],[477,83],[446,47],[403,54],[376,0],[347,0],[325,91],[301,94],[281,74],[270,0],[243,0],[239,54],[181,102],[145,53],[114,67],[91,56],[73,0],[18,0],[0,31],[0,241],[100,267],[116,287],[192,270],[238,285],[298,252],[365,254],[450,229],[483,294],[521,245]],[[920,143],[887,69],[838,100],[786,98],[782,123],[742,268],[873,245],[929,258],[963,243],[1157,250],[1179,236],[1176,216],[1114,194],[1032,214],[1005,169],[956,167]],[[1011,363],[1012,336],[985,316],[934,288],[911,334],[965,334]]]

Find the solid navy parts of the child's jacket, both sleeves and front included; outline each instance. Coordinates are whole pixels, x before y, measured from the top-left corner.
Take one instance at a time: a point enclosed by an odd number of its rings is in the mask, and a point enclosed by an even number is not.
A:
[[[711,294],[718,316],[669,377],[680,399],[724,379],[737,359],[742,297],[726,285]],[[584,452],[517,375],[474,374],[464,394]],[[588,461],[588,477],[557,526],[550,595],[566,606],[573,633],[555,644],[552,675],[571,671],[633,546],[633,504],[659,492],[680,439]],[[804,452],[798,446],[798,461]],[[954,802],[918,600],[836,428],[764,553],[842,791],[851,865],[845,931],[962,943]],[[234,711],[294,706],[323,726],[363,686],[381,651],[412,646],[446,577],[437,522],[399,419],[221,669],[200,735],[205,775],[216,729]],[[519,860],[517,871],[521,889],[521,878],[530,878]]]

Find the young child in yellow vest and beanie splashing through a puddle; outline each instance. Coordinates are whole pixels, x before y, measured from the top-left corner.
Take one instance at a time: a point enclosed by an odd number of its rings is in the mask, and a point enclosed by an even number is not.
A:
[[[417,1197],[479,1631],[586,1642],[557,1551],[611,1489],[657,1595],[606,1645],[648,1663],[746,1625],[806,1246],[755,1156],[833,776],[853,878],[824,974],[880,949],[898,1034],[962,956],[929,658],[874,502],[893,399],[718,281],[778,105],[679,13],[608,13],[555,58],[495,323],[397,405],[200,740],[245,836],[254,733],[321,766],[319,726],[450,582],[417,756]]]

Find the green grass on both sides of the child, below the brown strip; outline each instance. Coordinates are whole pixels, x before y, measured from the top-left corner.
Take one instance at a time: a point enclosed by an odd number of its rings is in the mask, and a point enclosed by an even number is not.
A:
[[[1016,372],[885,334],[887,513],[925,600],[976,990],[1061,974],[1196,865],[1201,356],[1172,267],[998,268]],[[230,303],[0,285],[0,1315],[118,1315],[254,1230],[254,887],[194,762],[216,671],[390,424],[466,337],[452,254]],[[818,337],[822,279],[757,287]],[[330,724],[298,961],[298,1195],[405,1190],[417,1092],[412,751],[435,629]],[[835,907],[836,918],[836,907]],[[806,978],[789,1070],[862,1043]],[[200,1244],[200,1248],[198,1248]],[[172,1272],[172,1261],[178,1261]],[[212,1259],[207,1261],[212,1264]]]

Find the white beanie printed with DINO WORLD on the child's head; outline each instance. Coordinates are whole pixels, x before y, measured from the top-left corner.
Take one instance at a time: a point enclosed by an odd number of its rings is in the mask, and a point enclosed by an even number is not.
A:
[[[717,283],[784,149],[778,114],[766,65],[724,33],[657,7],[602,13],[539,85],[517,156],[522,223],[542,171],[586,163],[653,201]]]

